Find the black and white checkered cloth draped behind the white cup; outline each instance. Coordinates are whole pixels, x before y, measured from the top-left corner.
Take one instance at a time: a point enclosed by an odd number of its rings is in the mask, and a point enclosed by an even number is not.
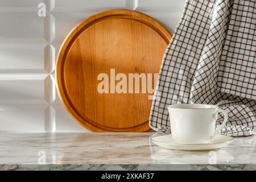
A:
[[[187,0],[160,68],[152,129],[169,133],[167,106],[183,103],[226,110],[222,134],[256,133],[255,0]]]

